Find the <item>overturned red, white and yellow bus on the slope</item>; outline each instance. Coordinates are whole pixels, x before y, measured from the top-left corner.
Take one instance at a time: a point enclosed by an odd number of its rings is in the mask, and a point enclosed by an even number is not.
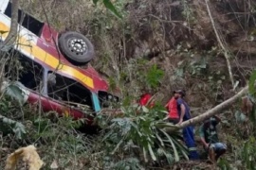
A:
[[[24,85],[20,87],[24,103],[40,104],[45,111],[68,113],[79,119],[86,117],[80,106],[98,112],[106,100],[119,99],[108,93],[107,82],[93,67],[81,67],[94,57],[94,46],[86,37],[77,32],[58,33],[21,9],[18,16],[17,41],[9,55],[15,56],[20,64],[18,68],[22,68],[14,80]],[[2,42],[8,36],[10,18],[11,3],[1,0]],[[6,75],[11,77],[11,71],[16,68],[8,67],[10,71]]]

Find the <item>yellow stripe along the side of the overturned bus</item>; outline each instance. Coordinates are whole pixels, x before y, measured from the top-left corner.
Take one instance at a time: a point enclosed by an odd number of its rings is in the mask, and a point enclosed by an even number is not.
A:
[[[9,26],[6,26],[5,24],[0,22],[0,31],[9,31]],[[6,39],[8,36],[7,33],[1,35],[2,39]],[[19,49],[22,49],[27,52],[27,54],[32,55],[36,59],[39,59],[49,65],[50,67],[54,69],[58,69],[58,71],[68,75],[68,76],[74,76],[76,79],[80,80],[82,84],[94,88],[93,79],[89,76],[84,76],[81,72],[76,70],[75,68],[61,64],[59,62],[59,59],[54,58],[52,55],[46,53],[45,50],[37,46],[36,44],[31,44],[28,40],[26,40],[24,37],[19,37],[18,40]]]

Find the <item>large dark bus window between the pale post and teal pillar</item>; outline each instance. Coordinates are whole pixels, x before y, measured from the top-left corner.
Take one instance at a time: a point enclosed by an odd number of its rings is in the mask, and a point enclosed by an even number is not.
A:
[[[92,93],[73,79],[49,72],[47,76],[48,96],[62,100],[71,106],[80,104],[93,109]]]

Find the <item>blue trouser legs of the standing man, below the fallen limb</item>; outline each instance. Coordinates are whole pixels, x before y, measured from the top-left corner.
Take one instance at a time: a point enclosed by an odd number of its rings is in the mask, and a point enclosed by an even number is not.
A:
[[[198,160],[199,156],[196,151],[195,144],[194,144],[192,129],[193,129],[192,127],[183,128],[183,130],[182,130],[183,138],[184,138],[185,144],[187,145],[187,147],[189,148],[189,151],[190,151],[190,155],[189,155],[190,160]]]

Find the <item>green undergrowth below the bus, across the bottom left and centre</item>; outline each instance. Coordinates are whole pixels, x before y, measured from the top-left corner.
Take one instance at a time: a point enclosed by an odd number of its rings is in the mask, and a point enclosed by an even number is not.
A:
[[[129,107],[123,109],[124,117],[109,121],[98,115],[96,121],[101,131],[86,135],[79,130],[84,126],[81,120],[59,117],[54,111],[43,114],[31,106],[21,110],[14,102],[9,97],[1,99],[2,115],[21,125],[1,123],[2,168],[10,152],[28,144],[38,148],[46,169],[141,169],[147,164],[173,164],[187,158],[186,147],[177,141],[179,134],[163,130],[173,125],[161,121],[166,113],[159,108]]]

